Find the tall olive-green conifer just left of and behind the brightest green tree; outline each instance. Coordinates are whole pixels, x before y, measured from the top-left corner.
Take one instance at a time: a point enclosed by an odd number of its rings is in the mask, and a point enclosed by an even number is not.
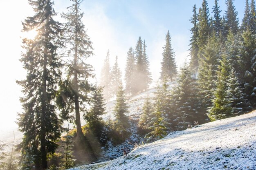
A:
[[[204,111],[211,106],[211,99],[215,88],[216,71],[218,70],[218,60],[220,58],[220,40],[213,33],[203,51],[202,60],[198,73],[198,84],[200,88],[201,102]]]

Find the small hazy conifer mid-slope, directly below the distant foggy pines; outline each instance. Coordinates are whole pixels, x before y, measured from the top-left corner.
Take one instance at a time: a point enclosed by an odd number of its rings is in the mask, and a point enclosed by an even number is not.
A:
[[[115,115],[115,130],[124,137],[129,135],[129,118],[125,115],[129,113],[126,104],[125,93],[122,84],[117,91],[117,100],[114,108]]]

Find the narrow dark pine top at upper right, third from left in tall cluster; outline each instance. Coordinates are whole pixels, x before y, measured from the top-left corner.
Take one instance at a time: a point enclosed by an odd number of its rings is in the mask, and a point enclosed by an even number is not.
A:
[[[218,0],[214,1],[214,7],[213,9],[213,30],[216,32],[217,35],[221,35],[221,32],[223,30],[223,23],[222,18],[220,16],[221,10],[220,6],[218,5]]]

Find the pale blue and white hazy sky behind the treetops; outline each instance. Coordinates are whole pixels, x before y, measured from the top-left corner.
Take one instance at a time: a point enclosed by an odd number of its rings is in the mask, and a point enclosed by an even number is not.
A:
[[[54,9],[58,13],[55,19],[63,22],[60,13],[67,11],[66,7],[71,5],[71,1],[54,2]],[[189,19],[194,4],[199,8],[202,0],[84,0],[81,4],[83,23],[94,48],[94,56],[88,58],[88,63],[94,66],[95,81],[99,82],[108,49],[111,65],[118,55],[119,66],[124,74],[126,53],[130,46],[135,48],[139,36],[146,41],[150,71],[153,80],[157,80],[168,30],[175,60],[180,67],[185,59],[189,60],[189,29],[192,26]],[[211,13],[214,0],[208,0],[208,4]],[[219,4],[223,15],[225,0],[219,0]],[[234,4],[241,21],[245,0],[234,0]],[[0,0],[0,130],[17,128],[14,121],[17,113],[22,112],[19,102],[21,88],[16,84],[16,80],[25,79],[26,76],[19,61],[22,21],[33,14],[27,0]]]

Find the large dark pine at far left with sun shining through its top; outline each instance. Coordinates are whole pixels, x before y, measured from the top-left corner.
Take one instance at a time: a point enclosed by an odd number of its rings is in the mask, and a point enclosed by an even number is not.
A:
[[[27,77],[17,81],[22,86],[24,97],[20,98],[24,112],[18,114],[19,130],[23,132],[21,147],[31,147],[36,155],[35,169],[47,168],[47,154],[54,153],[55,143],[61,135],[60,121],[54,104],[56,86],[61,77],[61,62],[57,49],[61,46],[60,23],[51,0],[29,0],[35,14],[22,23],[23,31],[35,29],[34,40],[24,38],[20,61],[27,70]],[[41,164],[41,165],[40,165]]]

